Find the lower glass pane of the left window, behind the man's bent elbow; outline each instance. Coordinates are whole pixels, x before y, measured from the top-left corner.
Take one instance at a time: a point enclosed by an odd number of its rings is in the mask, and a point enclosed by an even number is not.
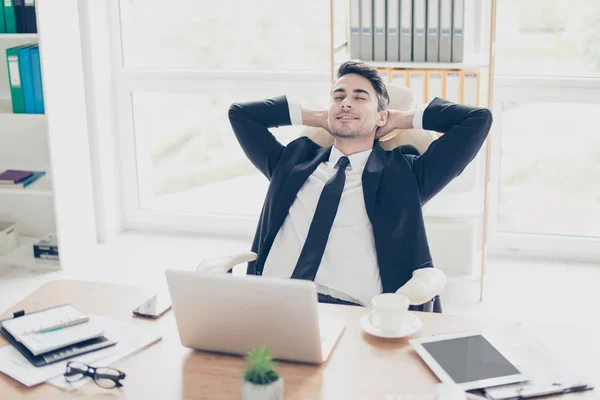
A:
[[[304,107],[325,109],[330,83],[210,86],[202,93],[133,94],[141,209],[258,215],[268,181],[241,150],[229,124],[229,106],[287,94]],[[289,126],[271,132],[287,144],[305,129]]]

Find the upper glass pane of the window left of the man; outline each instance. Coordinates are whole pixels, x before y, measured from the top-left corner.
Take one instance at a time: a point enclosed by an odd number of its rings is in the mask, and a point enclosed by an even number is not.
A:
[[[329,1],[120,0],[124,66],[327,72]]]

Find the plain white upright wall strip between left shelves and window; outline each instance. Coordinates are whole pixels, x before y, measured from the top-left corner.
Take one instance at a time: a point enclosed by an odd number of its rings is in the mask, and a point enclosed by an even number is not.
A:
[[[36,8],[61,266],[77,268],[96,245],[79,3]]]

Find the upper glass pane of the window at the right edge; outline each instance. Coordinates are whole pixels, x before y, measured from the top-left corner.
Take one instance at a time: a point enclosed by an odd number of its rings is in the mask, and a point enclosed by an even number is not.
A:
[[[497,3],[496,74],[600,76],[600,1]]]

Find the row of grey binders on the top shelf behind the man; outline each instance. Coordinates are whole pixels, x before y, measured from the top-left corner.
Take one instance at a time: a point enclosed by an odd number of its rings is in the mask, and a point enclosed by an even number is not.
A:
[[[350,0],[350,58],[462,62],[464,0]]]

